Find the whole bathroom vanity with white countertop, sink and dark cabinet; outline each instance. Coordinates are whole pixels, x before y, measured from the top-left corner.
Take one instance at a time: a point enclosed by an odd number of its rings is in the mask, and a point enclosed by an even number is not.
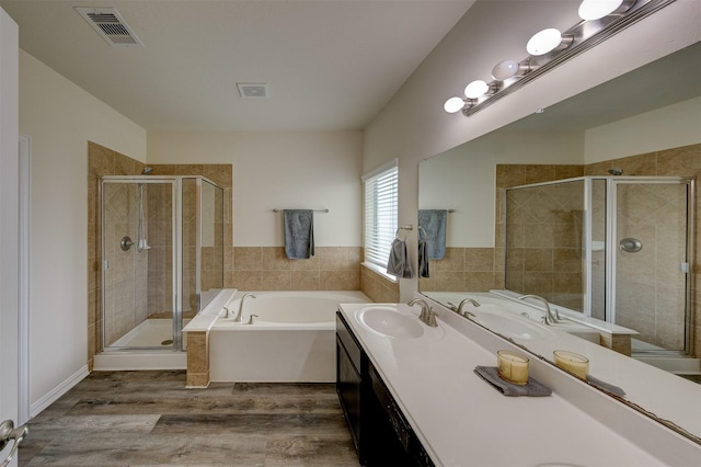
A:
[[[701,458],[701,446],[532,355],[529,374],[552,395],[504,396],[473,369],[495,366],[497,350],[521,350],[430,304],[435,328],[405,304],[340,306],[337,391],[361,465],[623,467]]]

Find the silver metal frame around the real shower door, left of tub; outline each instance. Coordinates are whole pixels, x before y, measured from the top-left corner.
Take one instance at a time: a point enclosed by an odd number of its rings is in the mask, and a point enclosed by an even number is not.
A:
[[[102,294],[100,297],[101,303],[101,312],[102,312],[102,342],[101,348],[102,351],[129,351],[129,350],[170,350],[170,351],[180,351],[182,350],[182,332],[180,329],[182,328],[182,272],[181,272],[181,261],[182,261],[182,248],[179,248],[180,238],[182,238],[182,208],[181,208],[181,196],[179,195],[179,191],[182,189],[182,181],[179,176],[166,176],[166,175],[103,175],[100,179],[100,242],[101,242],[101,254],[102,254],[102,264],[101,264],[101,289]],[[105,282],[106,282],[106,270],[108,267],[107,259],[105,254],[105,212],[104,212],[104,184],[105,183],[129,183],[129,184],[170,184],[171,185],[171,198],[172,203],[172,225],[171,228],[171,242],[173,244],[172,252],[172,261],[173,267],[171,271],[171,281],[173,282],[173,309],[172,309],[172,320],[173,320],[173,330],[179,328],[179,339],[176,342],[176,334],[173,332],[173,344],[169,346],[163,345],[152,345],[152,346],[119,346],[119,345],[106,345],[105,344]],[[138,239],[137,239],[138,241]]]

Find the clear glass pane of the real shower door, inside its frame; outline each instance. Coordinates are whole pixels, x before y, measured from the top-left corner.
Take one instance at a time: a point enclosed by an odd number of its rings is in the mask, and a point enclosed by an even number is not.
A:
[[[103,180],[102,341],[173,349],[174,181]]]

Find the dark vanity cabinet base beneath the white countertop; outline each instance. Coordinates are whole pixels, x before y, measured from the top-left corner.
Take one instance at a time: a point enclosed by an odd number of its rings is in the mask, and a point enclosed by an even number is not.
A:
[[[336,392],[360,465],[434,465],[341,312],[336,314]]]

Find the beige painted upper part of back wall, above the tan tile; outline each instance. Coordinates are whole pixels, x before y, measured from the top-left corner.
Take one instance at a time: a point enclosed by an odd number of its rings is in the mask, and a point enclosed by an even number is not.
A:
[[[233,246],[279,247],[283,215],[314,213],[318,247],[360,247],[361,132],[149,134],[149,163],[233,166]]]

